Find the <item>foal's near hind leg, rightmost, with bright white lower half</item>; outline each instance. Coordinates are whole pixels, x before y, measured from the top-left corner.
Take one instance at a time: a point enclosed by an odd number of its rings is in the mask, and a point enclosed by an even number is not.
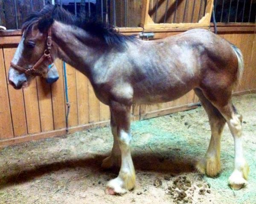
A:
[[[235,143],[235,162],[234,171],[228,179],[230,187],[234,190],[239,190],[244,184],[247,184],[247,177],[249,173],[249,166],[243,156],[242,147],[242,131],[241,119],[242,116],[236,111],[236,108],[231,102],[231,91],[206,91],[203,90],[204,95],[209,101],[218,109],[221,115],[226,119],[230,132],[233,135]]]

